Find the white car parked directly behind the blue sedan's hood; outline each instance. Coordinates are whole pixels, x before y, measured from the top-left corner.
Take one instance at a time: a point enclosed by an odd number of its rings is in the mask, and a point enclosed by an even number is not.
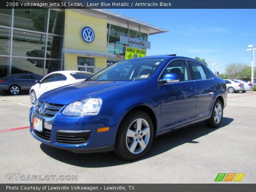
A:
[[[46,75],[42,80],[37,80],[30,89],[30,101],[32,104],[45,92],[52,89],[73,84],[90,78],[93,73],[82,71],[55,71]]]

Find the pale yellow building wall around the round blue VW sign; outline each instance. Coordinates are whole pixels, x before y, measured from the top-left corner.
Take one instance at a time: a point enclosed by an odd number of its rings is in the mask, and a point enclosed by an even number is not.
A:
[[[92,43],[86,43],[81,38],[82,28],[89,26],[94,30],[95,39]],[[85,14],[74,12],[73,10],[65,10],[65,49],[91,50],[97,52],[107,52],[107,20],[103,18],[95,18]],[[78,70],[77,57],[94,58],[95,71],[98,68],[106,67],[107,58],[94,57],[79,54],[64,54],[65,70]]]

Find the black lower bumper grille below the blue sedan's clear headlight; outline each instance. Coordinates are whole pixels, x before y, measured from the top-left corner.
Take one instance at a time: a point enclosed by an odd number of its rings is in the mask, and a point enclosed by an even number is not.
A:
[[[86,132],[57,132],[56,141],[62,144],[84,144],[90,138],[91,131]]]

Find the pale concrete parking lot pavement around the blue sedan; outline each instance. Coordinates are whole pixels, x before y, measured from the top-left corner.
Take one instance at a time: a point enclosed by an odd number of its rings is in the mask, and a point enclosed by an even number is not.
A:
[[[0,92],[0,183],[67,183],[6,180],[7,174],[77,176],[68,183],[214,183],[218,173],[245,173],[240,183],[256,183],[256,92],[228,94],[220,128],[199,123],[155,138],[149,153],[132,162],[40,143],[29,132],[30,106],[26,94]]]

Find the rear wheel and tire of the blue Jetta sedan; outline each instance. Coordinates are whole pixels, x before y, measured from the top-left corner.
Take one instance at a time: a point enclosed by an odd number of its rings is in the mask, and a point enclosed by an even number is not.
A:
[[[220,100],[216,100],[212,109],[212,115],[210,119],[206,120],[205,123],[208,127],[217,128],[220,126],[223,117],[223,104]]]

